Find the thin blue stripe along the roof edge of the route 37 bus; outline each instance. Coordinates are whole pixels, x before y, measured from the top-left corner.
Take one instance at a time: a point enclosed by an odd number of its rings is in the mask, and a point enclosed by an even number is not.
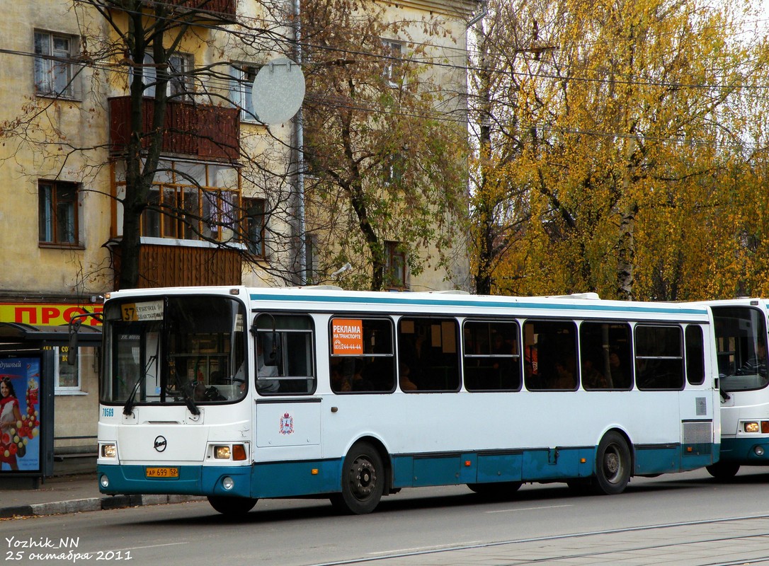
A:
[[[629,313],[654,313],[654,314],[706,314],[705,309],[669,309],[661,306],[611,306],[596,304],[591,300],[584,303],[508,303],[467,301],[467,300],[434,300],[411,299],[406,296],[396,297],[361,297],[361,296],[315,296],[315,295],[260,295],[251,294],[252,301],[291,301],[300,303],[339,303],[339,304],[383,304],[383,305],[418,305],[418,306],[478,306],[482,308],[512,308],[512,309],[554,309],[554,310],[592,310],[598,312],[629,312]]]

